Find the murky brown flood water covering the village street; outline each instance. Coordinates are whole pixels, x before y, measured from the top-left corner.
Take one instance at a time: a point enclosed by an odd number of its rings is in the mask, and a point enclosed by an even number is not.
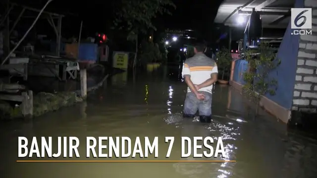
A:
[[[317,140],[288,132],[264,111],[252,117],[253,109],[235,89],[215,87],[210,124],[183,119],[186,85],[178,74],[178,67],[135,77],[121,73],[83,103],[33,122],[1,123],[1,178],[316,178]],[[80,160],[96,160],[85,158],[86,136],[159,136],[159,160],[166,159],[165,136],[176,137],[169,160],[202,160],[180,159],[181,136],[221,136],[226,154],[217,159],[236,162],[17,163],[18,136],[77,136]]]

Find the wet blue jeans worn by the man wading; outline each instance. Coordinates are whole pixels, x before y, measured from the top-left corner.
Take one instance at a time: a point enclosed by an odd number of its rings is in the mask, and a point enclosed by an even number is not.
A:
[[[201,122],[211,122],[211,101],[212,94],[207,91],[199,91],[205,95],[204,100],[197,99],[193,92],[187,92],[184,104],[184,117],[194,117],[199,113]]]

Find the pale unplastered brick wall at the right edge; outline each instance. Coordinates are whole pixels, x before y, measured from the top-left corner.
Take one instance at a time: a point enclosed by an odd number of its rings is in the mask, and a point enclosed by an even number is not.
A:
[[[305,0],[313,8],[313,33],[301,35],[292,110],[317,112],[317,0]]]

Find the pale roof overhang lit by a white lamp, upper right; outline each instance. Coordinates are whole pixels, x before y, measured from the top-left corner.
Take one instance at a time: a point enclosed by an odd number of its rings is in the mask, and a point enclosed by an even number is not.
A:
[[[245,28],[246,24],[238,24],[237,18],[248,16],[255,9],[261,15],[263,28],[287,28],[294,3],[295,0],[224,0],[214,22]]]

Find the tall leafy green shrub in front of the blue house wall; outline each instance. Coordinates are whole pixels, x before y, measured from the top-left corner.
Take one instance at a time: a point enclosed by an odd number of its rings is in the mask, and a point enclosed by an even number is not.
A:
[[[276,59],[275,51],[267,43],[260,44],[258,49],[248,50],[245,59],[249,63],[249,70],[243,74],[246,82],[243,93],[256,104],[257,115],[261,97],[267,93],[275,95],[277,80],[269,74],[281,61]]]

